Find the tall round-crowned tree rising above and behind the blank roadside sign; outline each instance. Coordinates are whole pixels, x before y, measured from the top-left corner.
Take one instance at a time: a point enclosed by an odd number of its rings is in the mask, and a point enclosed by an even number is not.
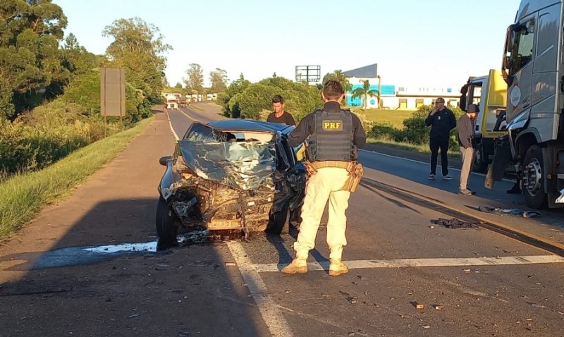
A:
[[[104,27],[102,35],[114,38],[106,49],[109,65],[125,68],[128,82],[146,97],[158,99],[164,87],[164,54],[172,49],[159,28],[141,18],[122,18]]]

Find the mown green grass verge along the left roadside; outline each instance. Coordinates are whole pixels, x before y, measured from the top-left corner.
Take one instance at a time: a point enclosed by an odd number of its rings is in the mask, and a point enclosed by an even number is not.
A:
[[[109,163],[153,118],[82,147],[42,171],[13,176],[0,184],[0,240],[34,219],[49,204],[71,195],[73,188]]]

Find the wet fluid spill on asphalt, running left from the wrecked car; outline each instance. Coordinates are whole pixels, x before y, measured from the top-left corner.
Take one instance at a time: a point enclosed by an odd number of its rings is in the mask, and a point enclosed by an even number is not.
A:
[[[198,243],[231,240],[240,237],[240,233],[219,233],[214,231],[190,231],[178,235],[176,241],[150,241],[147,243],[121,243],[116,245],[64,247],[49,252],[27,252],[7,255],[0,262],[24,260],[25,262],[11,266],[5,270],[27,271],[36,269],[56,268],[59,266],[81,266],[114,259],[121,255],[142,254],[154,255],[171,247],[187,247]]]

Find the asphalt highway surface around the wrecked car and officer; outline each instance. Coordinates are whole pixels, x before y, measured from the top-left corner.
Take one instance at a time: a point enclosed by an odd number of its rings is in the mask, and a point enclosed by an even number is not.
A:
[[[504,193],[509,182],[485,191],[474,175],[478,195],[462,197],[458,171],[430,181],[426,163],[398,153],[362,152],[365,178],[442,208],[360,186],[348,209],[349,274],[326,272],[325,218],[299,276],[278,271],[293,257],[295,231],[154,252],[164,171],[156,163],[171,152],[171,134],[219,118],[219,109],[202,108],[171,111],[170,123],[160,114],[121,157],[0,249],[1,336],[562,334],[563,258],[484,228],[430,222],[455,209],[562,243],[560,214],[484,214],[478,206],[521,207]]]

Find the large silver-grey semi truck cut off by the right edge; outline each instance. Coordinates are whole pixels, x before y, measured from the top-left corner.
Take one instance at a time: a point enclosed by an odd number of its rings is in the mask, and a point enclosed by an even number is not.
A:
[[[564,188],[564,31],[562,0],[522,0],[505,39],[508,137],[496,145],[486,187],[508,162],[520,168],[525,202],[562,207]]]

